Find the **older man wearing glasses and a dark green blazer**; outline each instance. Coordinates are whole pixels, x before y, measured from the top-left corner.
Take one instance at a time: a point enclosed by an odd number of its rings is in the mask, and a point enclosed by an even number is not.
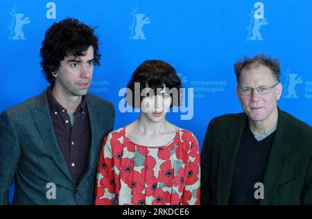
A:
[[[312,204],[312,128],[277,107],[279,62],[234,64],[244,113],[216,117],[202,147],[202,204]]]

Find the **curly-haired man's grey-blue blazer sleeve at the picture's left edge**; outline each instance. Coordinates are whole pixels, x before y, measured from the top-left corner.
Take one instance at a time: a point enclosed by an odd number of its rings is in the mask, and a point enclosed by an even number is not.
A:
[[[0,115],[0,205],[9,203],[9,190],[21,150],[13,123],[6,112]]]

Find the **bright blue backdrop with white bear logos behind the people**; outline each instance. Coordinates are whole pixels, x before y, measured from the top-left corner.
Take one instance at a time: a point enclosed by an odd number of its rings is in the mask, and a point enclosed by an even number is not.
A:
[[[90,92],[112,101],[114,128],[139,115],[119,110],[119,90],[141,62],[160,59],[194,89],[193,116],[170,113],[167,119],[193,131],[202,146],[214,116],[242,111],[234,62],[260,52],[281,62],[279,107],[312,125],[311,0],[1,0],[0,112],[49,85],[41,73],[41,42],[65,17],[98,26],[103,55]]]

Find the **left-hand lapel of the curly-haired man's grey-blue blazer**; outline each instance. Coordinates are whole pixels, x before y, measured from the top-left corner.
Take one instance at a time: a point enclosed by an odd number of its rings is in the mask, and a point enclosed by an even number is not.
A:
[[[67,175],[69,179],[71,179],[71,182],[73,182],[71,173],[69,172],[69,168],[67,167],[67,163],[55,137],[46,90],[39,96],[37,105],[35,109],[32,110],[32,114],[37,125],[37,129],[40,132],[40,136],[42,137],[44,145],[46,146],[46,149],[50,153],[52,159],[62,170],[62,172]]]

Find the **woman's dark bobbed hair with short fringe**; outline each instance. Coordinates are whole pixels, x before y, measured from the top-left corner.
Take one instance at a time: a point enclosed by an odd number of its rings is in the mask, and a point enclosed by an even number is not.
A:
[[[135,84],[139,85],[139,89],[135,89]],[[134,108],[139,108],[144,96],[141,96],[141,91],[146,88],[153,89],[154,94],[157,94],[157,89],[166,89],[171,98],[173,98],[171,107],[173,105],[180,105],[180,88],[181,80],[177,76],[175,69],[168,63],[162,60],[146,60],[135,69],[132,78],[128,83],[127,102]],[[174,89],[173,89],[174,88]],[[136,94],[139,92],[139,94]],[[139,98],[139,99],[138,99]]]

